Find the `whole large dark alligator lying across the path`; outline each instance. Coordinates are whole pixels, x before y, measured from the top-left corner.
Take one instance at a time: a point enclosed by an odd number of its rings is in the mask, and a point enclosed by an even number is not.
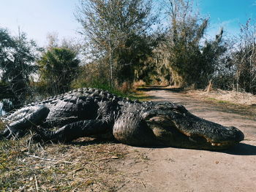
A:
[[[42,142],[108,135],[126,145],[222,150],[244,139],[238,128],[198,118],[180,104],[132,101],[97,88],[28,104],[2,121],[0,138],[20,138],[32,130]]]

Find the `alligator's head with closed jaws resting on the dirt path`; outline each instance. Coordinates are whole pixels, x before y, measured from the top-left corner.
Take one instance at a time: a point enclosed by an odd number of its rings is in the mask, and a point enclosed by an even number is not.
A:
[[[142,117],[157,139],[168,146],[222,150],[244,139],[238,128],[203,120],[173,103],[155,104]]]

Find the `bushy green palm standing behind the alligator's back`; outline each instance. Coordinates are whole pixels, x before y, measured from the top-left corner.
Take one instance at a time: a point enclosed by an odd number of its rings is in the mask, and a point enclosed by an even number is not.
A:
[[[53,47],[42,54],[38,61],[42,85],[51,94],[64,93],[77,77],[80,61],[77,54],[64,47]]]

